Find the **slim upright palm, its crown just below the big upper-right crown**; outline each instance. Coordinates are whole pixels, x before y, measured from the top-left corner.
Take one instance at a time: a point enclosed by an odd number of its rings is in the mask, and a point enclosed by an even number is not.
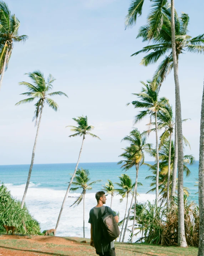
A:
[[[152,118],[155,120],[155,134],[156,134],[156,150],[157,150],[157,186],[156,186],[156,201],[158,201],[158,187],[159,187],[159,148],[158,148],[158,125],[157,125],[157,112],[168,103],[168,99],[165,97],[159,98],[158,90],[154,90],[152,81],[147,81],[148,84],[141,82],[144,87],[140,93],[133,93],[138,96],[141,101],[132,101],[134,108],[143,108],[138,115],[135,116],[134,123],[141,121],[144,117],[149,115],[150,123]],[[128,103],[129,104],[129,103]]]

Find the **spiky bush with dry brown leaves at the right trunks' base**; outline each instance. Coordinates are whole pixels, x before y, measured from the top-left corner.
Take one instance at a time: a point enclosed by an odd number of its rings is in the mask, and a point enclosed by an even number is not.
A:
[[[199,209],[193,201],[184,196],[185,236],[188,245],[198,246]],[[133,216],[131,216],[133,219]],[[138,241],[155,245],[177,245],[178,242],[178,203],[174,198],[169,210],[147,202],[136,205],[136,230],[142,234]]]

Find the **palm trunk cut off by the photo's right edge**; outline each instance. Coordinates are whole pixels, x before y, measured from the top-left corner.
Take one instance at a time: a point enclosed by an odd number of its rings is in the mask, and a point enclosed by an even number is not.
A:
[[[198,256],[204,256],[204,88],[200,119],[199,155],[199,248]]]

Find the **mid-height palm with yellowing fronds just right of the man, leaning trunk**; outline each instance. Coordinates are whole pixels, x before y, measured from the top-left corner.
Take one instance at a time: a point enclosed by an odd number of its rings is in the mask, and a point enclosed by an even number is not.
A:
[[[128,220],[131,212],[131,207],[133,204],[134,195],[135,195],[134,205],[136,205],[137,203],[137,185],[138,185],[139,166],[141,166],[144,163],[144,151],[149,152],[149,150],[151,149],[151,144],[147,144],[146,139],[147,139],[146,134],[145,133],[141,134],[137,129],[132,130],[129,136],[126,136],[122,139],[122,141],[128,141],[130,146],[127,147],[124,153],[120,155],[120,157],[122,156],[126,160],[121,160],[118,162],[118,164],[123,163],[121,168],[123,168],[123,170],[126,170],[126,171],[132,168],[133,166],[136,168],[136,181],[135,181],[134,193],[131,200],[131,205],[128,211],[128,216],[127,216]],[[134,211],[132,234],[134,233],[135,219],[136,219],[136,211]],[[122,241],[124,241],[124,237],[127,230],[127,224],[128,222],[126,222]],[[131,237],[131,242],[132,242],[132,238],[133,236]]]

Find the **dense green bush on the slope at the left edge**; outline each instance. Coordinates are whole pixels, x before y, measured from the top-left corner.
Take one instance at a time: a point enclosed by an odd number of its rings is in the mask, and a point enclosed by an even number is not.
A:
[[[0,232],[5,232],[3,225],[15,226],[17,233],[21,234],[41,234],[39,222],[25,205],[21,209],[21,202],[11,196],[4,184],[0,186]]]

